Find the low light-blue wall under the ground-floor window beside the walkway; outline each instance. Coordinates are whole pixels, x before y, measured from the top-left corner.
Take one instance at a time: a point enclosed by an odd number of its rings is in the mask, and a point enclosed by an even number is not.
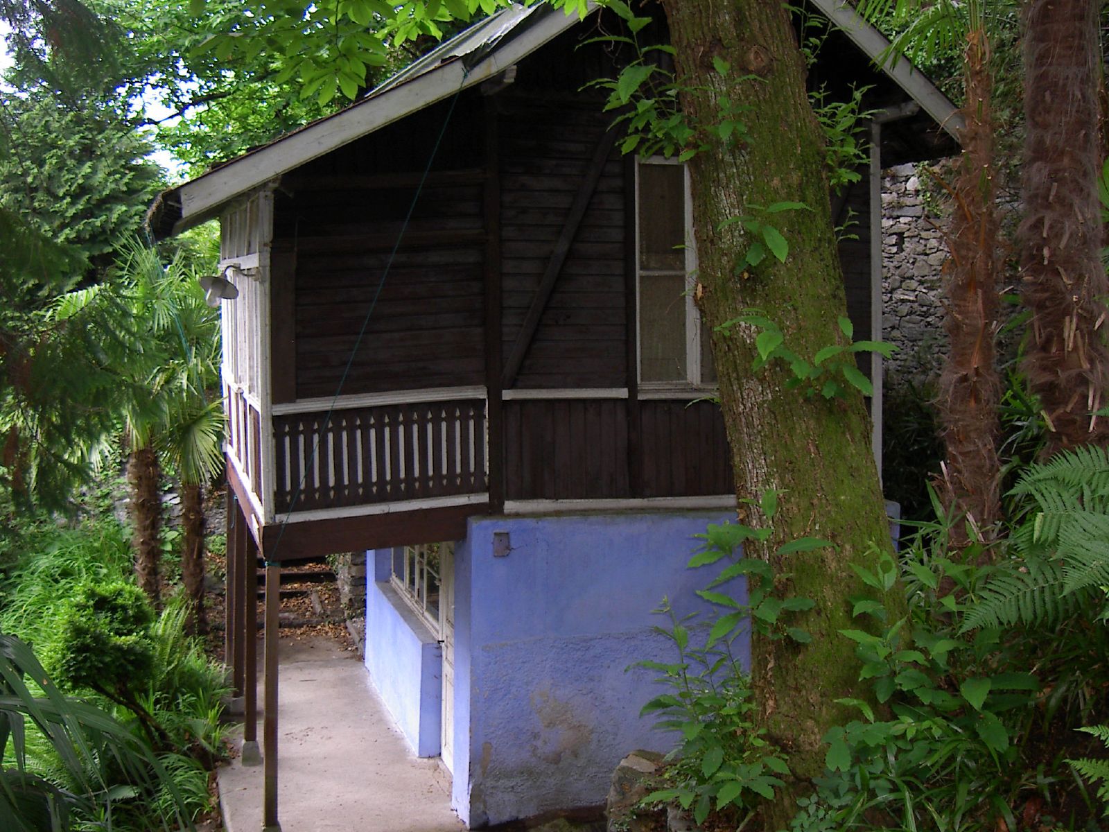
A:
[[[427,626],[389,585],[391,549],[367,552],[366,668],[419,757],[439,753],[442,651]]]

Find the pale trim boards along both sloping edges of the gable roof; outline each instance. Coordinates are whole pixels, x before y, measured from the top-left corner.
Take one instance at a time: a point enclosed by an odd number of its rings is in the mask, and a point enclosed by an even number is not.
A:
[[[894,65],[879,61],[889,45],[885,35],[859,17],[846,0],[812,2],[958,141],[963,119],[947,97],[907,59],[898,59]],[[594,2],[590,2],[588,13],[597,8]],[[535,7],[512,10],[513,13],[505,24],[498,28],[497,37],[530,17],[533,9]],[[174,224],[173,233],[211,219],[230,200],[275,176],[449,98],[459,90],[496,77],[578,22],[577,16],[552,10],[503,45],[497,45],[496,39],[491,38],[487,42],[494,45],[494,51],[468,73],[462,61],[455,59],[397,85],[389,85],[390,82],[387,81],[383,84],[381,92],[372,93],[335,115],[180,185],[176,192],[181,202],[181,219]],[[399,74],[404,77],[407,71],[403,71]]]

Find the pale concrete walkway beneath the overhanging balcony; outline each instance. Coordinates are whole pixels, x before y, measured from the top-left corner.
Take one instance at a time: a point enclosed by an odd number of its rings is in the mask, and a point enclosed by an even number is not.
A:
[[[438,758],[411,753],[357,653],[327,638],[282,639],[278,661],[282,832],[464,829],[450,810],[449,775]],[[237,731],[234,741],[241,744],[241,738]],[[260,832],[262,767],[236,759],[221,767],[218,780],[227,832]]]

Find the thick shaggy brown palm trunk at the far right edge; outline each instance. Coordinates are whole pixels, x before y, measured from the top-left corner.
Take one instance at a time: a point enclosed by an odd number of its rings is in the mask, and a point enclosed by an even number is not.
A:
[[[1100,53],[1095,0],[1025,6],[1024,302],[1031,312],[1025,374],[1048,429],[1045,454],[1106,444],[1109,283],[1099,260]]]

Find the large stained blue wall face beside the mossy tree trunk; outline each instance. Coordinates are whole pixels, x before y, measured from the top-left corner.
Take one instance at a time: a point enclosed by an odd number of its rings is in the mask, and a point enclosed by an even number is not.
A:
[[[471,826],[604,801],[620,758],[672,740],[639,710],[670,660],[654,609],[708,611],[694,535],[733,511],[475,518],[455,555],[452,804]],[[495,557],[494,532],[511,550]],[[742,587],[730,588],[742,596]],[[742,649],[749,646],[744,642]],[[744,657],[747,661],[749,657]]]

